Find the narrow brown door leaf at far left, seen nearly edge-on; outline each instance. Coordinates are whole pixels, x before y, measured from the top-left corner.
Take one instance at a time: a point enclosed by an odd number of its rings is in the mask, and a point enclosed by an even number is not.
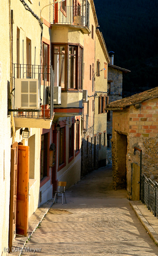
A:
[[[10,185],[10,209],[9,209],[9,249],[11,252],[12,241],[16,235],[16,200],[17,200],[17,165],[18,142],[11,146],[11,185]]]

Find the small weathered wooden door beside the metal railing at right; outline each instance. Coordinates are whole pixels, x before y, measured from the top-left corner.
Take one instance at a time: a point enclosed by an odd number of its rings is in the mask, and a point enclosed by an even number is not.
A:
[[[132,200],[140,200],[140,166],[132,164]]]

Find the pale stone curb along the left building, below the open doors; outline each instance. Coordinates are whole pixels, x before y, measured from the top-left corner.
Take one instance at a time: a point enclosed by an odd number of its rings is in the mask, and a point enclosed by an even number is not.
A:
[[[39,216],[37,217],[36,220],[34,220],[34,222],[32,223],[32,225],[30,226],[30,228],[28,229],[28,236],[24,236],[21,238],[21,240],[18,242],[18,244],[15,246],[14,248],[14,252],[9,253],[9,256],[20,256],[23,252],[23,249],[25,247],[26,242],[28,241],[28,239],[30,238],[30,236],[32,236],[32,234],[35,232],[36,228],[39,226],[40,222],[43,220],[43,218],[45,217],[45,215],[47,214],[47,212],[49,211],[50,207],[53,205],[53,199],[51,199],[50,201],[48,201],[48,203],[44,204],[44,209],[42,210],[42,212],[39,214]],[[42,207],[42,205],[40,206],[40,208]],[[39,208],[37,208],[38,210]],[[32,214],[33,215],[33,214]],[[14,244],[14,242],[13,242]],[[14,247],[14,246],[12,246]]]

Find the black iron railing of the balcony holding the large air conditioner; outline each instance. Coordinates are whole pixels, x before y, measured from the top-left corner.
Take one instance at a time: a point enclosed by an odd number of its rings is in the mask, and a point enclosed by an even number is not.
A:
[[[38,106],[35,109],[32,108],[15,108],[15,82],[17,78],[25,79],[38,79]],[[18,80],[17,80],[18,81]],[[33,80],[32,80],[33,81]],[[21,89],[22,90],[22,89]],[[53,99],[54,99],[54,70],[52,66],[41,65],[28,65],[28,64],[13,64],[13,102],[12,108],[9,108],[9,112],[14,112],[14,117],[24,118],[53,118]],[[22,93],[22,92],[19,92]],[[26,93],[27,94],[27,93]],[[30,94],[31,95],[31,94]],[[31,96],[28,97],[31,97]],[[33,94],[32,94],[33,95]],[[24,96],[25,97],[25,96]],[[27,95],[26,95],[27,97]],[[22,96],[21,96],[22,99]],[[44,107],[43,113],[41,111],[41,105],[49,105],[48,113]],[[47,106],[48,107],[48,106]]]

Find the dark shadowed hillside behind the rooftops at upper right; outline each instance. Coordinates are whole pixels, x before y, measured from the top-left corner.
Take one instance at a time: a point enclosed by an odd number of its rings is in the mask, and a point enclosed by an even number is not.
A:
[[[158,1],[94,0],[97,18],[114,65],[131,70],[125,97],[158,86]]]

